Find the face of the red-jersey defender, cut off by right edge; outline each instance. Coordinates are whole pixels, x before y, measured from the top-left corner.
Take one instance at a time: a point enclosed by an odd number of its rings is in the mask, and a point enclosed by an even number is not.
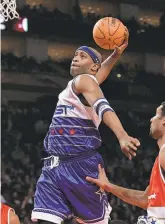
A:
[[[162,137],[165,131],[165,116],[162,116],[162,106],[159,106],[156,110],[156,114],[151,118],[150,135],[154,139]]]

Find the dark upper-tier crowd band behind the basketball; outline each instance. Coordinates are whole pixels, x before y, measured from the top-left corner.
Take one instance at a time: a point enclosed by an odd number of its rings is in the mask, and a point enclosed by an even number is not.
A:
[[[19,14],[21,17],[28,18],[28,33],[30,34],[50,40],[65,37],[67,41],[72,40],[79,43],[92,41],[92,29],[98,19],[113,16],[113,14],[100,16],[91,12],[84,15],[78,3],[73,6],[71,15],[61,12],[58,8],[49,11],[43,5],[33,7],[25,5],[19,10]],[[118,18],[120,19],[120,16]],[[122,19],[122,22],[130,32],[129,48],[131,50],[165,51],[165,13],[161,15],[160,25],[157,27],[148,23],[140,24],[134,17],[127,21]],[[12,24],[12,21],[8,23]],[[10,25],[8,29],[11,30]]]

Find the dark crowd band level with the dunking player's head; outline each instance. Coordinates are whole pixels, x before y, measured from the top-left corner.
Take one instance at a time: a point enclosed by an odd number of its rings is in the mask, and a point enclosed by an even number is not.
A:
[[[69,75],[70,69],[70,60],[63,60],[60,62],[53,62],[51,59],[43,61],[41,63],[37,62],[37,60],[33,57],[17,57],[12,53],[1,54],[1,66],[2,71],[8,72],[22,72],[22,73],[41,73],[46,72],[53,75],[59,75],[56,70],[56,66],[61,66],[65,69]],[[56,74],[57,73],[57,74]],[[134,66],[130,66],[128,63],[121,64],[118,63],[114,66],[111,77],[118,81],[127,81],[127,82],[139,82],[145,76],[150,77],[158,77],[162,76],[162,74],[152,74],[147,73],[143,70],[142,67],[135,64]],[[163,78],[163,76],[162,76]],[[152,79],[152,78],[151,78]]]

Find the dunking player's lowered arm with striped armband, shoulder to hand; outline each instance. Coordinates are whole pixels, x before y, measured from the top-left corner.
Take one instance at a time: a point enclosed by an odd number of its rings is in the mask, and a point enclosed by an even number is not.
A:
[[[103,119],[104,123],[115,133],[123,153],[129,159],[136,156],[136,150],[140,142],[136,138],[130,137],[124,130],[118,116],[104,98],[99,85],[89,76],[80,75],[76,78],[73,88],[77,94],[83,94],[100,119]]]

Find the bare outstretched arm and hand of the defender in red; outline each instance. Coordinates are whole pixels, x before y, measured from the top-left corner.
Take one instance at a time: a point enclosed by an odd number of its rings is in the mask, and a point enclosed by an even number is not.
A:
[[[140,208],[146,209],[148,204],[148,188],[145,191],[138,191],[128,188],[119,187],[108,181],[105,174],[104,168],[99,164],[98,166],[99,176],[98,179],[92,177],[86,177],[89,182],[97,184],[101,189],[106,190],[122,199],[128,204],[138,206]]]

